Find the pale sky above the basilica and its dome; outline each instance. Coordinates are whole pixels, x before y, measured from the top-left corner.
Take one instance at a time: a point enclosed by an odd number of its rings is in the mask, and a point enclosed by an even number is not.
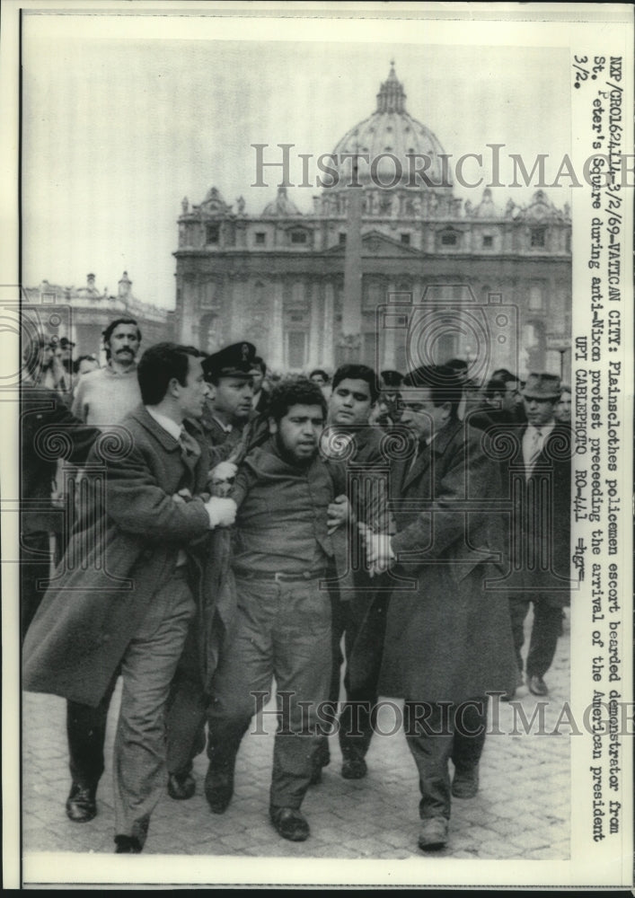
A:
[[[569,48],[545,33],[496,31],[474,22],[289,22],[112,15],[27,15],[22,25],[22,282],[117,292],[123,271],[137,298],[174,305],[181,199],[198,204],[216,186],[259,214],[278,170],[256,180],[252,144],[265,161],[329,153],[376,105],[394,59],[406,109],[456,157],[503,144],[531,169],[549,154],[553,176],[570,150]],[[522,38],[522,46],[518,40]],[[295,159],[295,156],[293,157]],[[551,159],[554,162],[551,165]],[[300,163],[295,163],[300,180]],[[468,164],[465,172],[476,171]],[[311,177],[316,175],[311,169]],[[476,179],[475,179],[476,180]],[[551,179],[552,180],[552,179]],[[548,195],[569,201],[567,180]],[[458,187],[481,200],[483,185]],[[494,189],[526,204],[535,187]],[[302,211],[319,189],[289,188]]]

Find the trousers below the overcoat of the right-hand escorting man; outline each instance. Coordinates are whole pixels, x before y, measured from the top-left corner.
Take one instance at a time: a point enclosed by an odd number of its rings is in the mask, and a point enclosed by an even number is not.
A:
[[[487,697],[449,706],[407,700],[403,723],[408,747],[419,770],[419,816],[449,820],[451,799],[448,761],[471,770],[481,760],[487,728]]]

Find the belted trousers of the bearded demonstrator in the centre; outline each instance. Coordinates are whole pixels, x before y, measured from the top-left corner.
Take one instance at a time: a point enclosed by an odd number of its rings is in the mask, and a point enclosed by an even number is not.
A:
[[[236,577],[236,629],[216,670],[208,709],[211,771],[233,773],[253,715],[278,689],[269,803],[295,807],[309,787],[319,747],[321,703],[331,676],[331,600],[319,580],[276,583]],[[269,732],[272,718],[256,723]]]

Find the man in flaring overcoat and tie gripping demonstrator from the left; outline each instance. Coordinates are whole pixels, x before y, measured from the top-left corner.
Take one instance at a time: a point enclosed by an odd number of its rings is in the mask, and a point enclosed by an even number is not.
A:
[[[157,344],[138,377],[144,404],[121,422],[125,445],[101,440],[101,459],[89,456],[89,466],[104,462],[104,495],[96,489],[83,509],[23,651],[25,689],[92,706],[110,698],[120,667],[119,853],[142,850],[165,788],[163,709],[196,607],[188,551],[210,528],[231,524],[235,508],[198,497],[207,454],[183,427],[201,414],[207,392],[197,350]],[[74,787],[94,802],[97,781]]]

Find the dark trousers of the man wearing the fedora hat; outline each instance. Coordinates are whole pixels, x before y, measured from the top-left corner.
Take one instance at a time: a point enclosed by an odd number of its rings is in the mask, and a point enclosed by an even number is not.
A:
[[[528,677],[544,676],[551,667],[556,654],[558,637],[562,633],[562,609],[560,605],[550,603],[549,597],[534,594],[531,599],[525,596],[509,597],[509,613],[512,621],[512,635],[516,651],[518,670],[523,670],[523,658],[520,650],[525,642],[525,617],[529,612],[529,603],[534,603],[534,625],[529,641],[529,651],[525,671]]]

